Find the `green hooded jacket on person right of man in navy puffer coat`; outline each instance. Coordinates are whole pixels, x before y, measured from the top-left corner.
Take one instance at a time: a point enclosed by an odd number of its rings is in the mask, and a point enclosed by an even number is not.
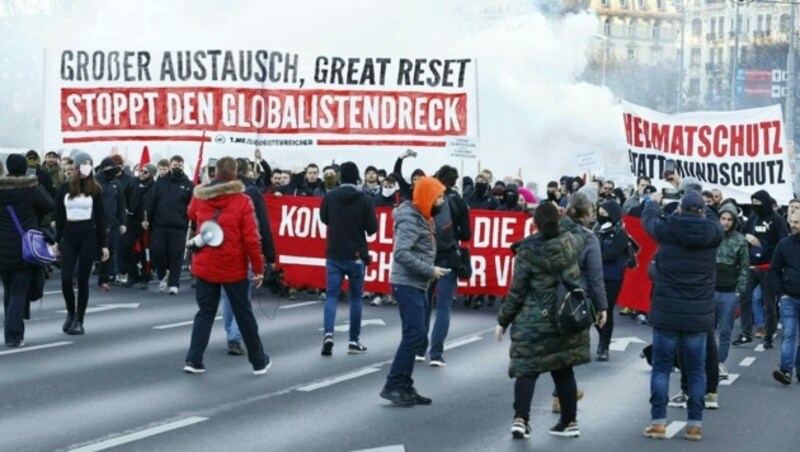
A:
[[[750,253],[747,240],[738,232],[739,212],[731,204],[719,208],[719,215],[733,216],[733,226],[725,233],[717,249],[716,291],[744,293],[750,269]]]

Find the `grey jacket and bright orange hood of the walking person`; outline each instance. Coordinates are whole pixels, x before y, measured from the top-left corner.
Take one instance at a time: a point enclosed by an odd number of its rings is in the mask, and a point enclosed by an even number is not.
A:
[[[394,249],[389,282],[426,290],[433,277],[436,236],[431,208],[444,193],[444,185],[432,177],[421,177],[414,186],[414,200],[392,212]]]

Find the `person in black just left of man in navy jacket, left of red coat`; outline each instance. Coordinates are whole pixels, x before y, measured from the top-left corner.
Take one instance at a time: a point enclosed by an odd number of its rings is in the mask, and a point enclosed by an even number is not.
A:
[[[156,174],[155,165],[148,163],[142,166],[137,183],[130,184],[125,193],[129,225],[122,241],[124,269],[128,275],[125,287],[139,284],[139,288],[145,290],[152,277],[148,272],[145,259],[144,248],[148,244],[145,242],[145,230],[142,228],[142,222],[145,220],[145,205],[153,195]],[[141,271],[139,270],[140,266]]]

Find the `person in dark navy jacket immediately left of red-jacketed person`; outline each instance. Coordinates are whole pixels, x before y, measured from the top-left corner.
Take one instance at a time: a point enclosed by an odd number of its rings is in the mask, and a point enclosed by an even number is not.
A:
[[[183,157],[172,156],[169,165],[169,173],[156,181],[153,196],[147,201],[147,221],[142,227],[152,228],[150,250],[160,281],[158,290],[177,295],[194,184],[183,173]]]

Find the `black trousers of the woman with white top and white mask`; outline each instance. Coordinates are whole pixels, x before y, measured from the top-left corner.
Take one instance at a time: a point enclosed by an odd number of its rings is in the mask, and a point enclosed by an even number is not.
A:
[[[68,221],[64,226],[64,239],[61,243],[61,292],[67,312],[77,314],[83,321],[86,307],[89,305],[89,276],[92,274],[92,263],[97,260],[98,244],[94,230],[94,221]],[[75,279],[75,265],[78,270],[78,305],[75,306],[75,290],[72,280]]]

